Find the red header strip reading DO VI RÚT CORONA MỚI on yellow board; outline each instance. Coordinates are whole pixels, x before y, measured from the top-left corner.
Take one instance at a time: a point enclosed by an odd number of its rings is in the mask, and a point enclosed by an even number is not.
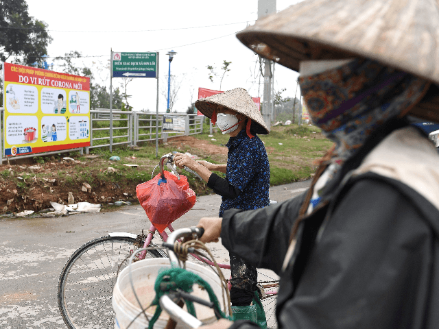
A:
[[[4,64],[5,81],[8,82],[76,90],[90,90],[89,77],[78,77],[77,75],[58,73],[10,63]]]

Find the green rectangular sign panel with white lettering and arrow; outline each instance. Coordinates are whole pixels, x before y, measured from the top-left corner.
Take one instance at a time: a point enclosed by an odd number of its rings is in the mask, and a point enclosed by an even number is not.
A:
[[[157,53],[111,52],[112,77],[157,77]]]

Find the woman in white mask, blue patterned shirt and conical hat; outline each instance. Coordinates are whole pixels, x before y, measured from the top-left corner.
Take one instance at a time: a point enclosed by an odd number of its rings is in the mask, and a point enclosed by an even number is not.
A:
[[[178,167],[189,167],[207,182],[207,186],[222,196],[219,217],[225,210],[263,208],[270,204],[270,164],[267,152],[257,134],[268,134],[259,108],[243,88],[199,99],[195,107],[216,123],[223,134],[229,134],[227,164],[212,164],[192,160],[186,154],[176,154]],[[220,178],[212,171],[226,173]],[[248,264],[230,250],[233,310],[244,314],[256,312],[252,303],[257,290],[256,267]],[[257,301],[255,301],[257,302]],[[246,308],[239,309],[239,308]],[[248,308],[248,310],[247,310]]]

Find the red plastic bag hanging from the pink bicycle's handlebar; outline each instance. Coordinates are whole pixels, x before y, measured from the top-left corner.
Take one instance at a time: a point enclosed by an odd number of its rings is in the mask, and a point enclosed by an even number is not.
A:
[[[163,232],[170,223],[185,215],[197,198],[184,175],[178,180],[169,171],[163,173],[166,181],[161,180],[159,173],[136,187],[137,199],[158,232]]]

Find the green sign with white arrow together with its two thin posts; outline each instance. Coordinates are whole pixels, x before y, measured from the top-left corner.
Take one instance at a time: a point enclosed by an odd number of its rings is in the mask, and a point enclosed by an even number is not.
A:
[[[112,151],[112,78],[113,77],[154,77],[157,79],[158,115],[158,52],[121,53],[111,49],[110,65],[110,151]],[[156,118],[156,156],[158,153],[158,117]]]

